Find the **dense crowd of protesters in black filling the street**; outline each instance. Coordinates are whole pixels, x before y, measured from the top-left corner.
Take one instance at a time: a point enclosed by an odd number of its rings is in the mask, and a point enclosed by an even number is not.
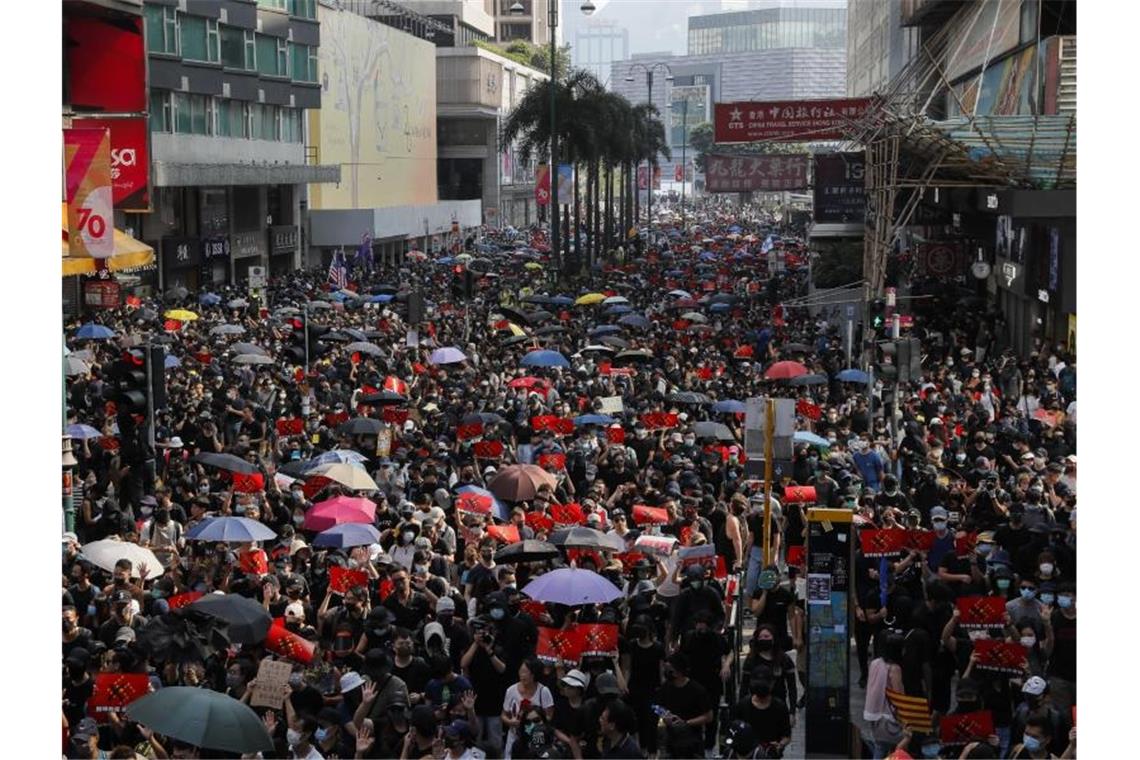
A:
[[[76,514],[63,540],[67,757],[238,757],[124,712],[96,714],[88,701],[100,673],[145,673],[149,690],[190,686],[249,703],[266,656],[292,662],[293,675],[283,710],[256,708],[275,743],[261,757],[779,757],[806,694],[804,567],[788,557],[805,544],[813,505],[785,500],[792,484],[813,485],[817,506],[852,509],[860,531],[935,536],[927,550],[883,558],[864,557],[856,541],[853,680],[866,689],[863,730],[876,757],[1073,757],[1075,358],[1049,345],[1013,354],[994,314],[955,308],[944,288],[948,307],[917,314],[912,332],[923,344],[922,381],[899,389],[894,420],[883,415],[890,387],[879,384],[869,418],[865,385],[838,379],[838,326],[780,305],[805,293],[800,247],[777,244],[787,265],[768,272],[769,230],[757,222],[709,214],[699,227],[661,231],[666,245],[630,245],[588,283],[557,286],[540,254],[480,245],[464,258],[480,276],[470,302],[455,295],[450,260],[413,256],[398,270],[355,268],[350,288],[360,297],[337,292],[326,271],[295,272],[272,280],[264,302],[235,302],[247,300],[236,289],[219,299],[168,291],[104,312],[108,340],[75,337],[79,322],[65,325],[72,358],[84,362],[67,379],[68,423],[95,431],[75,442]],[[552,301],[557,293],[569,297]],[[586,293],[627,303],[573,303]],[[422,322],[407,321],[408,294],[426,299]],[[324,307],[306,310],[314,302]],[[171,322],[170,309],[196,318]],[[293,335],[302,314],[334,332],[310,343],[308,373]],[[622,321],[628,314],[644,319]],[[213,329],[227,324],[241,329]],[[147,340],[176,359],[153,447],[106,392],[121,351]],[[249,356],[238,343],[271,361],[235,362]],[[433,362],[445,346],[462,361]],[[536,348],[569,367],[521,366]],[[765,379],[782,360],[825,379]],[[385,391],[402,401],[368,401]],[[717,402],[771,394],[801,401],[798,426],[826,444],[796,444],[790,477],[774,489],[775,561],[763,566],[763,484],[744,474],[743,415]],[[677,417],[661,426],[646,417],[654,412]],[[535,426],[543,416],[601,414],[625,436],[609,422]],[[461,428],[475,415],[471,435]],[[385,432],[347,431],[358,418]],[[730,435],[699,435],[709,422]],[[477,449],[484,441],[502,451]],[[234,455],[258,477],[203,453]],[[315,481],[308,464],[320,457],[363,469],[375,488]],[[461,488],[484,488],[513,464],[542,464],[551,482],[503,499],[503,514],[459,508]],[[315,546],[306,515],[337,496],[375,502],[377,541]],[[499,529],[549,539],[570,502],[580,506],[577,522],[625,550],[496,559],[507,544]],[[665,518],[646,522],[643,507]],[[219,517],[258,521],[276,538],[193,538]],[[636,551],[642,536],[673,537],[677,548]],[[158,564],[96,564],[84,547],[108,539],[145,547]],[[715,546],[724,573],[678,562],[682,547],[702,544]],[[522,594],[571,564],[612,581],[618,598],[534,605]],[[341,570],[364,571],[367,583],[334,590]],[[736,573],[747,608],[731,614],[724,575]],[[215,620],[174,603],[196,593],[262,605],[275,626],[314,645],[311,661],[266,641],[233,643]],[[971,595],[1001,598],[1001,623],[959,626],[955,599]],[[740,613],[751,634],[734,668]],[[589,623],[619,627],[616,653],[557,664],[536,656],[540,628]],[[978,665],[984,638],[1025,647],[1016,672]],[[937,732],[898,719],[887,689],[926,697],[936,718],[988,710],[993,735],[939,745]]]

